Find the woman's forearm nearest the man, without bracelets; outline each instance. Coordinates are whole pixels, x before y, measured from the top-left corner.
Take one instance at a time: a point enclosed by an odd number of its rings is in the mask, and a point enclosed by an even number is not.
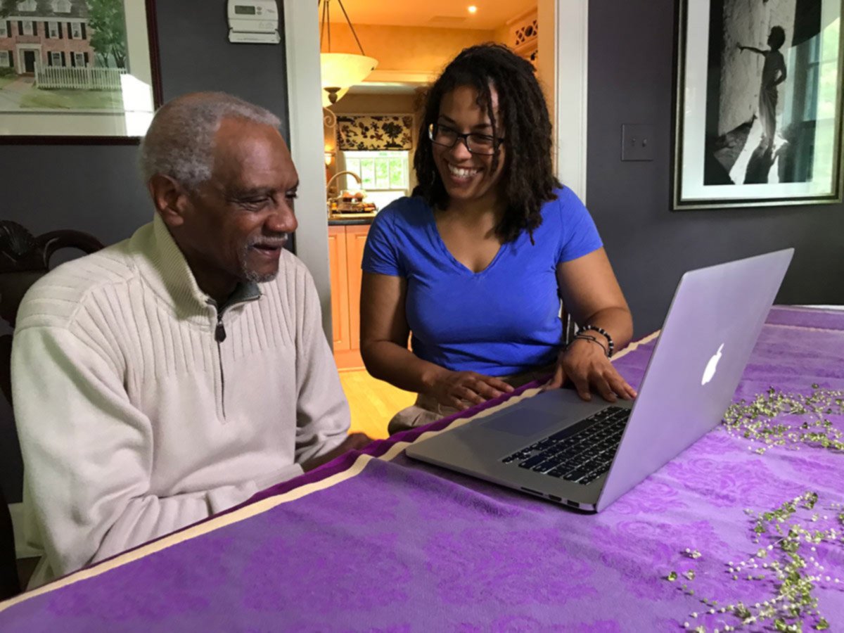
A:
[[[436,377],[448,371],[392,341],[361,343],[360,356],[372,376],[408,392],[428,392]]]

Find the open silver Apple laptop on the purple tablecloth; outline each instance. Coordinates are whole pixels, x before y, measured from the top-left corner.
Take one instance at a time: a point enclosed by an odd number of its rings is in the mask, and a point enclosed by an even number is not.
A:
[[[685,273],[635,401],[554,389],[416,442],[408,456],[603,510],[722,419],[793,252]]]

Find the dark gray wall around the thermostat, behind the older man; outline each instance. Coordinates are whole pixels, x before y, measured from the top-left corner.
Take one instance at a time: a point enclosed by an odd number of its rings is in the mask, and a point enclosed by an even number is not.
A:
[[[164,99],[193,90],[224,90],[287,120],[284,41],[230,44],[225,2],[159,0],[158,36]],[[279,24],[284,35],[284,25]],[[286,124],[284,136],[288,136]],[[0,219],[35,235],[77,229],[106,244],[132,235],[153,209],[135,168],[137,146],[0,145]],[[19,500],[20,455],[11,411],[0,398],[0,483]]]

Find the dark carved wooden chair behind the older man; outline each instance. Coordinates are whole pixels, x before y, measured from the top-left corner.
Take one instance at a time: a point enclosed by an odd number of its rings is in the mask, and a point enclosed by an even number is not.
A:
[[[84,253],[103,245],[78,230],[55,230],[35,237],[23,226],[0,220],[0,318],[14,329],[20,300],[50,269],[51,257],[62,248]],[[0,336],[0,391],[12,404],[12,334]],[[34,568],[32,560],[15,560],[14,533],[8,505],[0,490],[0,600],[20,592]]]

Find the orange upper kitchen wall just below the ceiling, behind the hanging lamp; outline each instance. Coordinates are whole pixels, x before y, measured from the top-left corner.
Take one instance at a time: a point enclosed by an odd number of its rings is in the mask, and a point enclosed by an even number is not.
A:
[[[439,74],[447,62],[467,46],[495,40],[494,30],[430,29],[417,26],[355,24],[367,56],[378,60],[376,70]],[[327,52],[327,37],[322,52]],[[332,24],[332,52],[358,52],[347,24]]]

